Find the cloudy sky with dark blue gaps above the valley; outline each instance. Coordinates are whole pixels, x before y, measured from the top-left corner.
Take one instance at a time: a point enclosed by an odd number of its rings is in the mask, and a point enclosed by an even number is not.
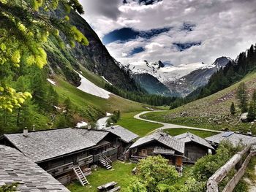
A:
[[[178,66],[235,59],[256,42],[256,0],[80,0],[110,55]]]

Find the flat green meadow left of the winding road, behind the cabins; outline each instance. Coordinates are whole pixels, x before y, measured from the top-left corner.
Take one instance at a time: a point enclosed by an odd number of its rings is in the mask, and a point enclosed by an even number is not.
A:
[[[129,129],[129,131],[138,134],[140,137],[143,137],[149,132],[154,131],[156,128],[162,126],[159,123],[150,123],[133,118],[136,114],[138,114],[138,112],[129,112],[121,114],[121,118],[120,120],[118,120],[116,124]]]

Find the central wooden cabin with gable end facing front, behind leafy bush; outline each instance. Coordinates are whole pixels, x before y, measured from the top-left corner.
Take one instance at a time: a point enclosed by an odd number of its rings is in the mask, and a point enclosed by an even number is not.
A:
[[[170,135],[157,131],[146,137],[138,139],[129,147],[131,160],[138,161],[150,155],[162,155],[169,159],[170,164],[182,166],[184,158],[184,142],[171,137]]]

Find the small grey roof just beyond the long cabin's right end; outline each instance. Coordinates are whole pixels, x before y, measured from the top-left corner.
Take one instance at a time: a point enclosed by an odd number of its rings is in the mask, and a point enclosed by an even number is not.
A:
[[[138,134],[135,134],[132,131],[129,131],[128,129],[121,126],[111,126],[105,128],[105,130],[110,131],[111,133],[120,137],[121,140],[127,143],[132,142],[132,140],[137,139],[139,137]]]

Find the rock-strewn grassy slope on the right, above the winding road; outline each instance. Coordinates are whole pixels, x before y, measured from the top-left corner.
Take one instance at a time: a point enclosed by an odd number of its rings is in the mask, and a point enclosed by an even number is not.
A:
[[[242,81],[246,83],[250,97],[253,89],[256,88],[256,73],[252,72],[248,74]],[[214,93],[211,96],[185,104],[174,110],[148,113],[147,118],[199,128],[229,128],[230,130],[244,132],[250,128],[252,132],[256,134],[255,124],[241,123],[239,120],[241,113],[238,112],[238,102],[235,98],[236,88],[239,83],[240,82]],[[232,102],[236,105],[236,115],[230,115],[230,105]]]

